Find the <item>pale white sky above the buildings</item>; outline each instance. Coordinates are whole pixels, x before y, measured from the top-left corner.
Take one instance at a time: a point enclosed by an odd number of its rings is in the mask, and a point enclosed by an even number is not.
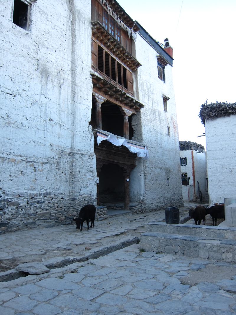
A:
[[[156,40],[173,47],[179,139],[205,147],[201,105],[236,102],[236,0],[118,0]],[[182,9],[181,9],[182,6]],[[206,148],[206,147],[205,147]]]

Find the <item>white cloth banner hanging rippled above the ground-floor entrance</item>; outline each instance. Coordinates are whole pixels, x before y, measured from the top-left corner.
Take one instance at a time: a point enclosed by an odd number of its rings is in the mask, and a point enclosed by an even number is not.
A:
[[[98,146],[103,140],[107,140],[114,144],[114,146],[125,146],[130,152],[137,153],[138,157],[145,157],[148,158],[148,149],[146,146],[139,146],[137,144],[127,142],[126,139],[117,139],[114,135],[104,135],[102,133],[97,132],[98,134]]]

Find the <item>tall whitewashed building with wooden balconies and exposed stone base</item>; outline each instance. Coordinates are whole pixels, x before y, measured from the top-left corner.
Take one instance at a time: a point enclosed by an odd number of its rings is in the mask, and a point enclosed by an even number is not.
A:
[[[169,43],[114,0],[5,0],[0,23],[0,230],[181,206]]]

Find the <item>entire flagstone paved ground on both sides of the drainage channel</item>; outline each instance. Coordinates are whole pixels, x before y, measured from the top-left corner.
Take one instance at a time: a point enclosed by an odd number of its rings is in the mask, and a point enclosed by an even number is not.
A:
[[[181,217],[186,215],[182,209]],[[1,235],[5,262],[31,257],[54,265],[1,282],[0,314],[236,314],[235,264],[143,252],[141,243],[115,250],[156,219],[164,220],[163,212],[114,217],[83,232],[57,226]],[[102,256],[60,267],[68,253],[77,261],[90,253]]]

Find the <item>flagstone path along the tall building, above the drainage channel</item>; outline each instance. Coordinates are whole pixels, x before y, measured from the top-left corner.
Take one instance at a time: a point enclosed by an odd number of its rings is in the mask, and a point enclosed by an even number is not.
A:
[[[191,205],[194,206],[189,204]],[[188,217],[188,206],[180,208],[180,220],[186,217]],[[147,230],[146,224],[155,220],[165,221],[165,210],[114,216],[107,220],[95,221],[94,228],[89,231],[85,222],[82,232],[76,230],[74,223],[1,234],[0,272],[29,261],[50,259],[52,261],[54,258],[55,265],[56,257],[59,259],[74,257],[76,261],[86,260],[88,254],[95,255],[98,248],[103,254],[107,254],[112,251],[113,246],[139,237],[141,232]]]

